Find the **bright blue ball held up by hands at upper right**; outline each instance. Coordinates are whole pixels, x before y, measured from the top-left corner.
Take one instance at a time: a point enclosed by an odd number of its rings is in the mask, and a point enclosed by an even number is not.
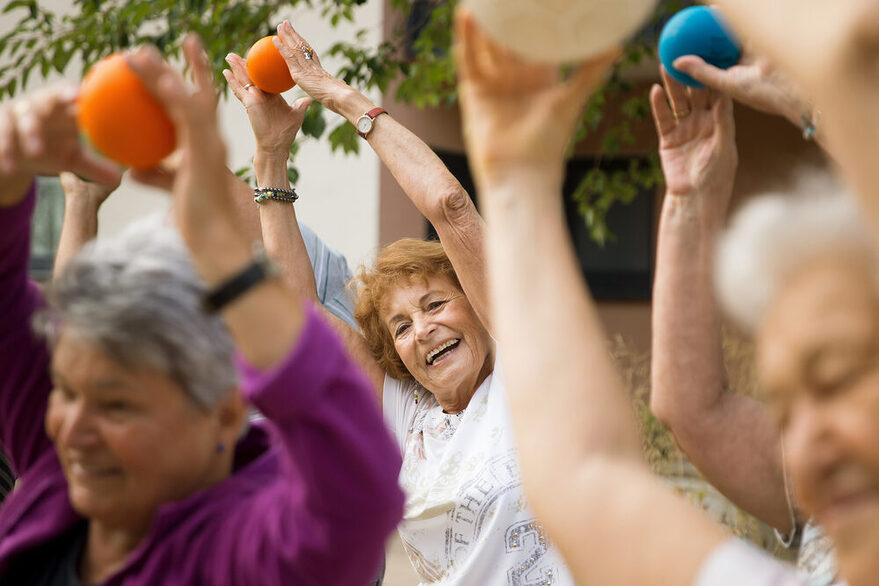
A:
[[[659,35],[659,59],[678,82],[705,87],[672,63],[684,55],[698,55],[707,63],[729,69],[739,62],[742,45],[714,8],[691,6],[675,14]]]

